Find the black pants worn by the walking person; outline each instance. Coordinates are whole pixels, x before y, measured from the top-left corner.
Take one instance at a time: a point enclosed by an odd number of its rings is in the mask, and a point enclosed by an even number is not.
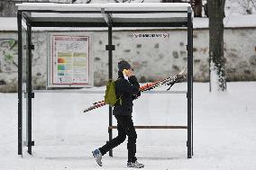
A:
[[[132,116],[130,115],[115,115],[117,120],[118,136],[105,144],[102,148],[99,148],[102,155],[105,155],[111,148],[115,148],[126,139],[128,136],[128,162],[135,162],[137,158],[136,154],[136,139],[137,133],[133,126]]]

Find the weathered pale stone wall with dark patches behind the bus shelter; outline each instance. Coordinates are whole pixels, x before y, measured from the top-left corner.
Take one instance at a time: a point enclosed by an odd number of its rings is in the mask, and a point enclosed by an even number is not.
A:
[[[88,31],[91,32],[91,31]],[[85,34],[87,33],[84,32]],[[155,33],[160,38],[136,38],[135,35]],[[95,85],[108,79],[106,31],[93,31]],[[168,38],[163,35],[168,34]],[[34,89],[46,85],[47,32],[34,31],[32,43],[32,84]],[[187,65],[186,30],[114,31],[114,77],[120,59],[130,61],[140,82],[156,80],[177,73]],[[206,82],[208,74],[208,30],[194,30],[194,79]],[[0,31],[0,92],[17,88],[17,32]],[[256,80],[256,28],[224,30],[224,57],[228,81]]]

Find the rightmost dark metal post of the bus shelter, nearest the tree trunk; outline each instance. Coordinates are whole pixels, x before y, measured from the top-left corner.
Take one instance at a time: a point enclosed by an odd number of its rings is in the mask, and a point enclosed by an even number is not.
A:
[[[193,24],[191,7],[187,9],[187,158],[192,157],[193,136]]]

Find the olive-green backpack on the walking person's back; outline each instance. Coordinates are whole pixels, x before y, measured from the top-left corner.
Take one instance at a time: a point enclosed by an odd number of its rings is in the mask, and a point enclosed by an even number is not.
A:
[[[121,95],[122,96],[122,95]],[[117,99],[116,94],[115,94],[115,81],[114,80],[109,80],[106,84],[106,89],[105,89],[105,103],[109,104],[111,106],[114,106],[114,104],[119,100],[120,104],[122,105],[122,99],[121,96]]]

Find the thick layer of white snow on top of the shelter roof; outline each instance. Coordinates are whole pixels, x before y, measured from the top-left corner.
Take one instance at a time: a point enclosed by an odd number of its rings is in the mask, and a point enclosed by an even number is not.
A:
[[[16,4],[21,11],[58,11],[58,12],[187,12],[187,3],[105,3],[105,4],[54,4],[23,3]]]

